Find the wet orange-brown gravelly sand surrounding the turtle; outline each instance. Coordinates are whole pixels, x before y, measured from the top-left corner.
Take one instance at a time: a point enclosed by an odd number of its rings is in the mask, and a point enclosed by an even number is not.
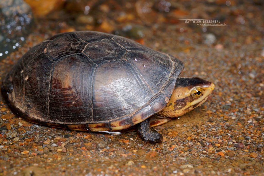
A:
[[[143,2],[137,1],[136,6]],[[185,10],[179,10],[182,4]],[[117,30],[127,22],[120,22],[121,17],[132,26],[142,25],[144,38],[138,41],[182,60],[181,76],[214,82],[215,90],[202,106],[155,128],[164,142],[145,144],[135,132],[115,136],[39,126],[13,115],[0,97],[0,175],[263,174],[264,4],[182,4],[172,2],[168,13],[153,10],[159,18],[149,25],[149,17],[133,10],[125,15],[118,7],[107,12],[110,5],[105,3],[98,9],[110,15],[108,26],[84,25],[85,29]],[[126,5],[131,6],[133,2]],[[216,17],[229,26],[208,26],[203,32],[201,26],[177,20]],[[57,21],[56,25],[63,22]],[[70,22],[65,27],[66,23],[60,31],[76,27]],[[47,30],[53,28],[54,19],[39,22],[26,44],[1,61],[0,80],[30,47],[58,32]]]

